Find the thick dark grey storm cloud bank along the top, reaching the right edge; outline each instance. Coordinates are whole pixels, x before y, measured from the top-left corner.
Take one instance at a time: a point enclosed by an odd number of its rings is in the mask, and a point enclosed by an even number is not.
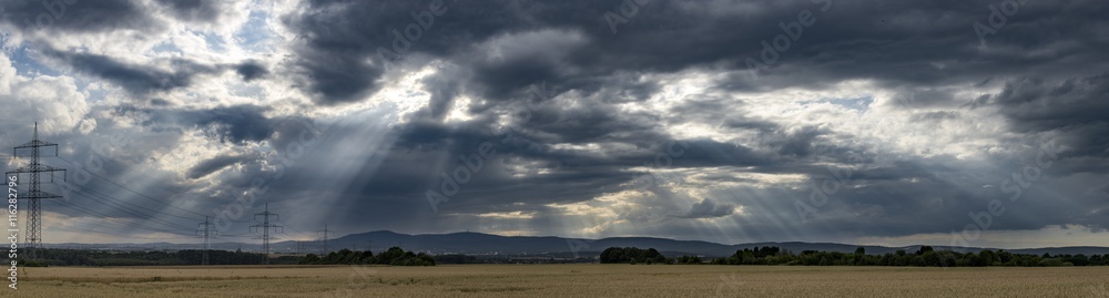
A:
[[[1060,72],[1075,65],[1086,69],[1089,65],[1077,61],[1098,61],[1095,58],[1100,53],[1054,42],[1047,37],[1064,35],[1079,44],[1105,44],[1097,32],[1090,31],[1091,27],[1082,24],[1096,20],[1093,16],[1109,12],[1105,6],[1090,1],[1028,4],[1009,18],[1003,32],[988,37],[988,48],[980,48],[971,24],[986,21],[990,13],[990,3],[986,1],[896,4],[834,1],[823,11],[828,2],[832,1],[774,4],[653,1],[640,8],[630,22],[621,24],[621,33],[612,34],[601,16],[619,8],[620,1],[448,1],[447,11],[434,18],[434,24],[423,30],[407,52],[470,66],[475,72],[470,89],[490,100],[511,97],[513,92],[541,81],[564,82],[567,89],[591,92],[618,71],[673,72],[721,63],[731,65],[730,70],[747,70],[745,59],[759,59],[764,50],[760,41],[773,41],[777,34],[784,34],[780,23],[796,22],[797,13],[807,10],[815,13],[815,24],[802,28],[801,37],[763,71],[769,80],[757,84],[815,86],[873,79],[895,86],[938,85],[981,81],[1001,73]],[[1083,7],[1079,18],[1051,17],[1070,16],[1076,7]],[[301,51],[305,59],[299,64],[308,71],[315,89],[324,93],[325,97],[319,100],[342,102],[360,99],[354,95],[372,93],[377,86],[375,80],[380,68],[368,66],[365,61],[379,60],[378,47],[390,49],[397,39],[393,30],[400,32],[414,23],[408,13],[394,12],[423,10],[426,10],[424,3],[411,1],[312,1],[307,11],[288,16],[286,23],[304,32],[307,41]],[[529,32],[540,32],[540,38],[550,39],[566,38],[554,32],[573,32],[583,35],[583,41],[579,47],[557,51],[545,51],[540,48],[542,43],[511,44],[521,49],[519,53],[500,60],[489,60],[484,56],[488,54],[484,49],[475,48],[498,37]],[[1032,52],[1048,54],[1032,55]],[[354,71],[349,69],[352,65],[364,69]],[[336,72],[336,69],[350,71]],[[721,84],[749,84],[746,75],[746,71],[737,72]]]

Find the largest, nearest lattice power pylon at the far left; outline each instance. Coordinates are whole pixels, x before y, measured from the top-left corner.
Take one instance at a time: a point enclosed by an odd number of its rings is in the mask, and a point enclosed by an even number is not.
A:
[[[59,198],[60,195],[47,193],[42,191],[40,186],[41,181],[39,179],[40,173],[50,173],[50,182],[54,181],[54,172],[65,172],[64,168],[53,167],[39,163],[39,148],[41,147],[54,147],[54,156],[58,156],[58,144],[43,142],[39,140],[39,123],[34,123],[34,134],[31,136],[31,142],[16,146],[12,150],[12,156],[19,154],[19,150],[31,150],[31,163],[27,166],[21,166],[16,171],[8,171],[7,174],[30,174],[30,182],[28,183],[27,192],[18,193],[19,198],[27,199],[29,205],[27,214],[27,235],[23,236],[23,243],[28,248],[28,256],[31,258],[38,257],[38,249],[42,247],[42,206],[39,199],[43,198]],[[65,174],[62,173],[62,178],[65,178]],[[22,183],[19,183],[22,184]]]

